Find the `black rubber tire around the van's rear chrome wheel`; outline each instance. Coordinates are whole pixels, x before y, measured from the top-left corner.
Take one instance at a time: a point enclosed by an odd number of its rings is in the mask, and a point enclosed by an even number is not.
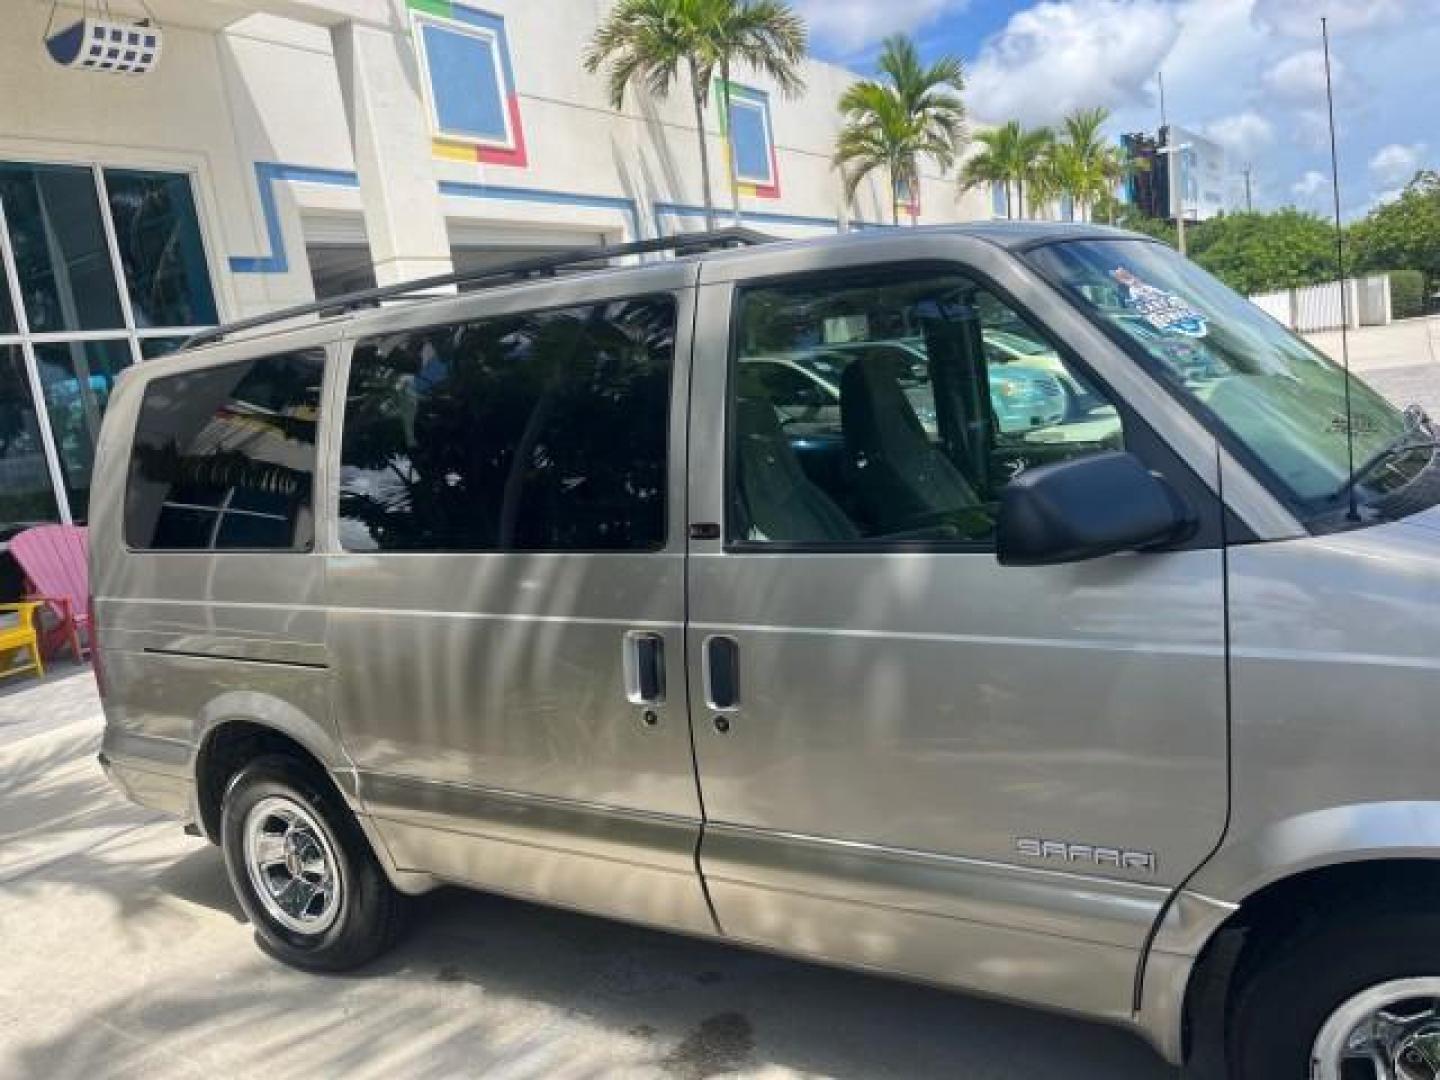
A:
[[[245,863],[251,811],[261,801],[275,798],[308,809],[334,854],[334,877],[340,881],[337,910],[314,933],[285,926],[266,910]],[[220,848],[230,886],[255,927],[256,940],[288,965],[320,972],[348,971],[374,959],[400,936],[405,897],[386,878],[338,792],[304,762],[269,755],[256,757],[235,775],[220,809]]]

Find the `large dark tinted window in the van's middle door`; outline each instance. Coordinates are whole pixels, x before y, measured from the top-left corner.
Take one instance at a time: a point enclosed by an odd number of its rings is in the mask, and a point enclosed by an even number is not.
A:
[[[341,448],[341,546],[662,547],[674,347],[671,297],[359,341]]]

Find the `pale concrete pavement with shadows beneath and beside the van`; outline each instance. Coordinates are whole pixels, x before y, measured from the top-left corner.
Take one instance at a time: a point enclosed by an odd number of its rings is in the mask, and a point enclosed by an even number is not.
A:
[[[0,1077],[1175,1077],[1119,1030],[461,890],[302,975],[109,789],[99,726],[88,671],[0,693]]]

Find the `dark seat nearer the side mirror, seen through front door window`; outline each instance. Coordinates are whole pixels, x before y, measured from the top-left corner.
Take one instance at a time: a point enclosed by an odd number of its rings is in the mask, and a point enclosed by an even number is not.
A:
[[[845,456],[865,511],[881,533],[981,503],[926,433],[900,387],[900,367],[887,356],[858,357],[840,380]]]

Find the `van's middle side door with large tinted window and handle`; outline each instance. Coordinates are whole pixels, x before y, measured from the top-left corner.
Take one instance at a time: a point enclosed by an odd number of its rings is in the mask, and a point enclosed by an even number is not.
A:
[[[694,269],[357,330],[336,714],[396,860],[704,932],[683,667]]]

